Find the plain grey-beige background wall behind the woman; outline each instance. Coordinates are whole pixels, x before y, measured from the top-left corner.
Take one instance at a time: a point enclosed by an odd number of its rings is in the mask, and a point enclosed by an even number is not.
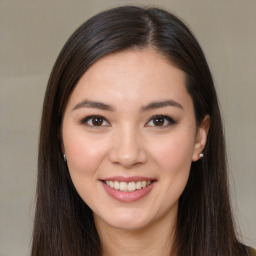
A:
[[[121,4],[154,5],[196,34],[220,98],[238,230],[256,247],[255,0],[0,0],[0,255],[29,254],[43,95],[70,34]]]

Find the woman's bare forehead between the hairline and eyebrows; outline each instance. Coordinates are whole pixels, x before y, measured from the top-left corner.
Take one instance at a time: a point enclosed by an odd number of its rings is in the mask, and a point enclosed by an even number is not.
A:
[[[107,103],[147,103],[167,98],[191,101],[185,73],[151,48],[107,55],[81,77],[70,104],[83,99]]]

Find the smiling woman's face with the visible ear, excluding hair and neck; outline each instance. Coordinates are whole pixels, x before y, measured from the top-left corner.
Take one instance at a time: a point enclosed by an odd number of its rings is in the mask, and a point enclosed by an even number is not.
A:
[[[135,230],[175,220],[206,140],[185,74],[152,49],[97,61],[71,94],[63,153],[96,223]]]

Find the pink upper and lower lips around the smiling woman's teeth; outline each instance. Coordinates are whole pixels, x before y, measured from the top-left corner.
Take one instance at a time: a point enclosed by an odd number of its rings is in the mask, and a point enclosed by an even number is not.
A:
[[[107,186],[104,181],[124,181],[124,182],[132,182],[132,181],[141,181],[141,180],[145,180],[145,181],[154,181],[152,182],[150,185],[148,185],[147,187],[145,188],[141,188],[141,189],[138,189],[138,190],[135,190],[133,192],[124,192],[124,191],[120,191],[120,190],[115,190],[114,188],[111,188],[109,186]],[[154,187],[154,184],[156,183],[155,179],[152,179],[152,178],[146,178],[146,177],[121,177],[121,176],[116,176],[116,177],[109,177],[109,178],[106,178],[104,180],[100,180],[105,191],[107,192],[107,194],[109,196],[111,196],[112,198],[114,198],[115,200],[118,200],[120,202],[125,202],[125,203],[128,203],[128,202],[135,202],[135,201],[138,201],[140,199],[142,199],[143,197],[147,196],[150,191],[153,189]]]

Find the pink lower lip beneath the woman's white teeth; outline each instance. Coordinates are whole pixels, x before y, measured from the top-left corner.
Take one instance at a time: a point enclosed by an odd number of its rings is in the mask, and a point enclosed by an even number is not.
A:
[[[153,188],[155,182],[151,183],[145,188],[135,190],[133,192],[123,192],[120,190],[115,190],[109,186],[107,186],[104,182],[102,182],[103,187],[105,188],[106,192],[113,197],[114,199],[120,202],[134,202],[140,200],[141,198],[145,197]]]

